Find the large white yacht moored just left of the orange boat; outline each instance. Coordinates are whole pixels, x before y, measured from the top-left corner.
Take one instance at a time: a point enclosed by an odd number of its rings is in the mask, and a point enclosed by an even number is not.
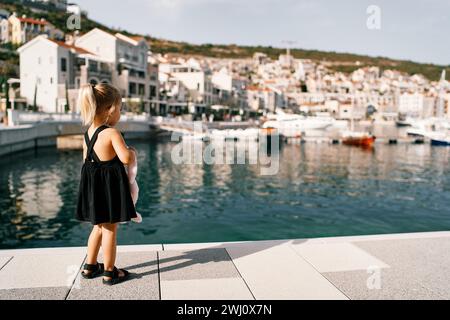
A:
[[[333,125],[332,117],[307,117],[299,114],[288,114],[278,111],[267,116],[263,128],[275,128],[280,134],[288,138],[300,137],[307,130],[323,130]]]

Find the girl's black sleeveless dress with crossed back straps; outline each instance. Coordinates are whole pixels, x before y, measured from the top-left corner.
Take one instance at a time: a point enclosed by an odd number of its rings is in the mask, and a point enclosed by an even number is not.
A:
[[[100,161],[94,151],[98,134],[106,128],[97,128],[91,141],[87,131],[84,134],[87,153],[81,168],[76,218],[93,225],[130,221],[137,216],[123,163],[117,155]]]

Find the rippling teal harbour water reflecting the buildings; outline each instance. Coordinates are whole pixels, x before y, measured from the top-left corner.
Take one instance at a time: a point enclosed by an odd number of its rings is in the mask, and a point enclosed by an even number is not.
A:
[[[130,140],[139,155],[142,224],[124,225],[122,244],[245,241],[450,228],[450,148],[377,141],[371,149],[292,140],[266,165],[176,164],[178,142]],[[208,142],[195,144],[205,150]],[[254,143],[258,147],[258,143]],[[225,150],[226,151],[226,150]],[[20,158],[20,161],[17,159]],[[89,226],[73,218],[81,150],[41,147],[2,156],[3,249],[81,246]]]

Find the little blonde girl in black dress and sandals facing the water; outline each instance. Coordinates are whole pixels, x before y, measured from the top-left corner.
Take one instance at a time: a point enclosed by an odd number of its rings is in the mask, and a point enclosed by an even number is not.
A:
[[[115,267],[117,226],[137,217],[124,167],[136,150],[128,147],[121,132],[114,128],[120,119],[121,100],[116,88],[103,83],[84,85],[78,97],[83,124],[90,127],[84,134],[76,218],[93,224],[81,274],[91,279],[103,273],[107,285],[130,275]],[[104,264],[97,262],[100,246]]]

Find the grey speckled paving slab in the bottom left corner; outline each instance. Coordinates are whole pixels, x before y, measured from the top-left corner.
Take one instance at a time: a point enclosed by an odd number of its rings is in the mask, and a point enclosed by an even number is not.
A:
[[[0,290],[0,300],[64,300],[68,287]]]

